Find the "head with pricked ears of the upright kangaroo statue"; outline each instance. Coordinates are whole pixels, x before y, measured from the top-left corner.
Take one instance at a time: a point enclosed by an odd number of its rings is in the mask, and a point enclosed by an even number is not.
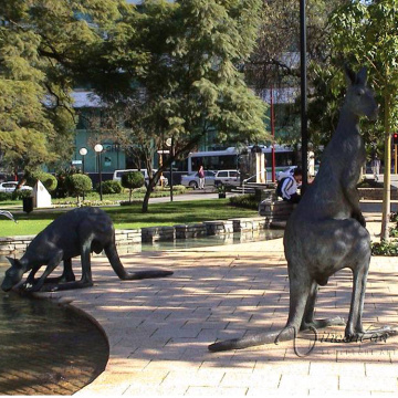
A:
[[[366,85],[366,67],[355,73],[346,66],[345,73],[348,88],[344,107],[356,116],[366,116],[370,121],[375,121],[378,115],[378,105],[374,92]]]

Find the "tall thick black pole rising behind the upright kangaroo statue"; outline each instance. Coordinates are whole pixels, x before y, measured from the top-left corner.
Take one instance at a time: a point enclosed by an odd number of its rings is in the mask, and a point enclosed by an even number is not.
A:
[[[300,0],[300,64],[301,64],[301,123],[302,123],[302,193],[308,184],[308,132],[307,132],[307,81],[306,81],[306,17],[305,0]]]

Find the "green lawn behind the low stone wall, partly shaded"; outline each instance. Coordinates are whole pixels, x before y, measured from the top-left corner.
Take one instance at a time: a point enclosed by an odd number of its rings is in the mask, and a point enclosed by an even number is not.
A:
[[[175,226],[258,216],[256,211],[229,206],[228,199],[153,203],[147,213],[142,213],[140,203],[103,207],[103,209],[111,216],[116,229]],[[30,214],[18,212],[14,213],[18,223],[2,217],[0,237],[36,234],[63,212],[55,209],[33,210]]]

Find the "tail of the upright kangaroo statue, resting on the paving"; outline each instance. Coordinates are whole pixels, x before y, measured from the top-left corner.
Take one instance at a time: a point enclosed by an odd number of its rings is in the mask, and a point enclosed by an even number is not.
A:
[[[212,353],[223,352],[229,349],[242,349],[254,347],[263,344],[277,344],[277,342],[286,342],[293,339],[295,336],[294,327],[284,327],[282,331],[260,333],[242,338],[232,338],[223,342],[217,342],[209,345],[209,350]]]

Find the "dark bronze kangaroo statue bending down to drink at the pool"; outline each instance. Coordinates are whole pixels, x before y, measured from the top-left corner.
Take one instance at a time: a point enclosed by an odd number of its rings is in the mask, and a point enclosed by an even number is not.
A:
[[[20,260],[8,258],[11,268],[6,271],[1,289],[6,292],[18,285],[25,272],[30,274],[23,284],[29,292],[40,290],[61,291],[93,285],[91,271],[91,253],[105,254],[121,280],[142,280],[171,275],[171,271],[139,271],[129,273],[123,266],[116,251],[115,229],[109,216],[98,208],[74,209],[56,218],[41,231],[29,244]],[[72,258],[81,255],[82,279],[75,281],[72,270]],[[48,277],[51,272],[64,262],[60,277]],[[42,265],[46,265],[43,274],[34,279]],[[60,283],[44,286],[44,283]]]

